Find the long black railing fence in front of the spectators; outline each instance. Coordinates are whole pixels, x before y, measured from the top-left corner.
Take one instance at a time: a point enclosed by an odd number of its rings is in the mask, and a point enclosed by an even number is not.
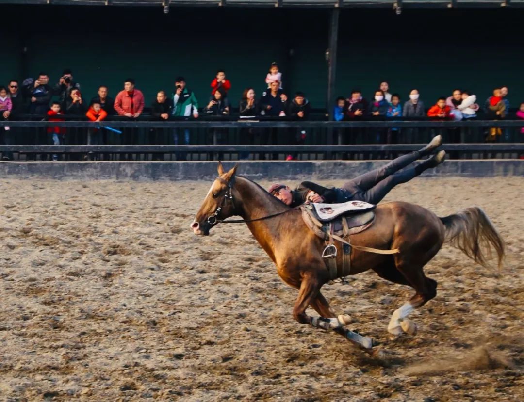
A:
[[[439,134],[451,158],[515,159],[524,154],[524,121],[518,120],[0,121],[5,126],[9,131],[2,133],[0,152],[23,161],[49,160],[51,155],[77,161],[390,159]],[[62,142],[51,146],[56,132],[63,133]]]

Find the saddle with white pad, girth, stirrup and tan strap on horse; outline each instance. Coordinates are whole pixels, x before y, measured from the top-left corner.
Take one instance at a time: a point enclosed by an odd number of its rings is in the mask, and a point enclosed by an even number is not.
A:
[[[378,254],[395,254],[399,250],[377,250],[350,243],[350,236],[361,233],[373,225],[376,205],[363,201],[349,201],[342,204],[312,203],[300,206],[302,219],[305,225],[316,236],[325,241],[326,247],[322,252],[328,267],[330,280],[351,274],[351,249]],[[335,240],[342,249],[339,253]],[[337,260],[341,260],[337,263]]]

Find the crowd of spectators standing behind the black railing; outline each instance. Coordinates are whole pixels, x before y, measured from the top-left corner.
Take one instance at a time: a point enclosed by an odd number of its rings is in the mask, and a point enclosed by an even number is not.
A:
[[[21,120],[28,118],[49,121],[63,121],[66,118],[88,119],[99,122],[119,116],[122,120],[134,120],[144,114],[146,100],[144,94],[135,87],[135,80],[124,80],[123,89],[113,99],[106,85],[100,85],[97,94],[85,98],[81,93],[80,84],[74,80],[73,72],[63,71],[58,83],[51,85],[49,75],[45,72],[38,74],[36,79],[28,78],[19,83],[10,80],[7,87],[0,86],[0,118],[2,120]],[[311,117],[311,106],[303,92],[295,92],[288,96],[283,85],[282,73],[277,63],[271,63],[265,77],[264,90],[257,96],[255,88],[245,88],[238,108],[232,109],[228,97],[232,83],[226,77],[224,70],[218,70],[212,79],[210,97],[199,106],[199,102],[187,85],[184,77],[174,80],[173,92],[158,91],[156,98],[150,103],[150,119],[167,121],[180,118],[198,119],[201,115],[232,116],[237,113],[239,118],[258,118],[265,116],[275,119],[305,121]],[[468,90],[455,89],[450,96],[443,96],[431,102],[429,108],[421,98],[418,89],[413,89],[407,99],[402,99],[398,93],[390,91],[387,82],[381,82],[371,99],[366,99],[362,91],[353,90],[350,96],[339,96],[332,110],[335,121],[384,120],[384,119],[442,119],[442,120],[472,120],[482,117],[486,120],[501,120],[505,118],[524,120],[524,103],[517,108],[516,114],[510,115],[510,104],[507,98],[508,88],[501,86],[494,88],[493,95],[485,102],[477,99],[476,95]],[[89,99],[89,100],[87,100]],[[482,115],[481,115],[482,114]],[[26,115],[30,115],[29,117]],[[220,143],[223,129],[212,129],[213,143]],[[416,130],[416,129],[410,129]],[[8,125],[0,128],[2,144],[15,143],[15,133]],[[376,130],[376,141],[379,143],[397,143],[400,128]],[[460,142],[460,130],[450,130],[450,142]],[[524,133],[524,127],[521,130]],[[302,144],[307,136],[304,129],[288,130],[288,143]],[[252,136],[253,129],[244,129],[244,136]],[[189,144],[191,133],[189,129],[173,129],[166,136],[163,130],[151,129],[155,143]],[[274,143],[278,131],[268,129],[261,136],[262,143]],[[504,135],[504,129],[491,127],[485,133],[485,141],[494,142]],[[49,126],[38,132],[40,144],[63,144],[68,137],[65,127]],[[84,143],[104,144],[104,135],[100,127],[90,128]],[[121,134],[122,144],[145,143],[144,138],[134,129],[124,129]],[[246,157],[246,154],[241,155]],[[288,155],[288,159],[296,155]],[[12,154],[3,154],[4,160],[12,159]],[[57,159],[57,155],[53,155]]]

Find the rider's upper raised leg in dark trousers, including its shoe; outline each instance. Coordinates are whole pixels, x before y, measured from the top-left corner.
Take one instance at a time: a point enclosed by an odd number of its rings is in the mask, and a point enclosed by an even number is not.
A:
[[[420,157],[423,157],[424,155],[428,155],[435,148],[440,147],[441,144],[442,144],[442,137],[436,136],[424,148],[418,151],[407,153],[406,155],[402,155],[401,157],[398,157],[392,160],[391,162],[382,166],[381,168],[378,168],[378,169],[372,170],[371,172],[367,172],[360,176],[357,176],[353,180],[344,184],[342,188],[345,188],[348,191],[352,191],[356,185],[363,191],[366,191],[372,188],[373,186],[375,186],[381,180],[384,180],[389,175],[394,174],[395,172],[398,172],[399,170],[405,168],[406,166],[413,163]]]

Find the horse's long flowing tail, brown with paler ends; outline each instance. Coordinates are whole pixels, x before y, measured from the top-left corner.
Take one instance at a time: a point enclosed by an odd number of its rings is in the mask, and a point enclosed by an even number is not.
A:
[[[489,268],[487,260],[491,258],[494,248],[500,273],[505,252],[504,240],[481,208],[469,207],[440,220],[446,228],[444,242],[462,250],[476,263]]]

